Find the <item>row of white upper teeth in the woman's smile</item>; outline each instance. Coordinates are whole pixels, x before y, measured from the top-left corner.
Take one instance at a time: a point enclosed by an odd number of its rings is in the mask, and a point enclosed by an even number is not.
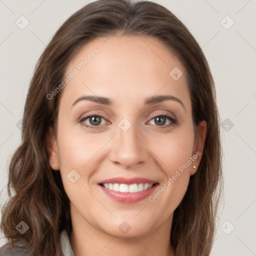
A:
[[[139,183],[139,184],[118,184],[118,183],[103,183],[103,186],[105,188],[108,188],[113,191],[117,192],[130,192],[130,193],[136,193],[138,191],[146,190],[153,186],[153,184],[149,183]]]

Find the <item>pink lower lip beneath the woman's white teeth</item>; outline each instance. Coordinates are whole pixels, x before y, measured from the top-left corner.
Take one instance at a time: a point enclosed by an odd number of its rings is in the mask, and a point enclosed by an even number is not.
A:
[[[155,187],[157,185],[158,184],[155,184],[154,186],[152,186],[146,190],[138,191],[135,193],[118,192],[118,191],[114,191],[114,190],[105,188],[102,185],[99,185],[99,186],[101,187],[101,189],[103,189],[103,191],[106,193],[106,195],[108,195],[115,201],[123,202],[123,203],[133,203],[133,202],[138,202],[138,201],[144,199],[145,197],[149,196],[153,192],[153,190],[155,189]]]

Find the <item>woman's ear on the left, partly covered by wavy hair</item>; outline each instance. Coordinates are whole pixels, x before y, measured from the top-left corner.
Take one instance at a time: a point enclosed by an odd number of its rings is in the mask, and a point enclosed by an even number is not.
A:
[[[49,165],[54,170],[59,170],[57,140],[55,138],[53,128],[49,127],[46,132],[46,148],[49,155]]]

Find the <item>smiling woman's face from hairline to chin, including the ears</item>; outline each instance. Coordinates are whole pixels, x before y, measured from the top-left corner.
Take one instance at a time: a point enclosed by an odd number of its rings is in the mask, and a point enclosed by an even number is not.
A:
[[[169,230],[203,146],[183,65],[155,38],[110,36],[84,45],[65,74],[49,151],[72,222],[113,236]],[[204,140],[204,121],[198,130]]]

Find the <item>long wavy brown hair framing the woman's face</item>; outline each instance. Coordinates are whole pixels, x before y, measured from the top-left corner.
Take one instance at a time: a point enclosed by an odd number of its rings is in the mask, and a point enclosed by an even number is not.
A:
[[[99,36],[153,36],[182,62],[196,127],[207,122],[204,149],[196,173],[174,211],[171,244],[176,256],[208,256],[215,232],[217,205],[222,190],[221,145],[215,88],[204,54],[171,11],[150,1],[97,0],[72,14],[56,31],[41,54],[30,82],[22,119],[21,144],[8,166],[8,201],[2,207],[1,231],[11,244],[25,241],[32,255],[60,256],[60,232],[70,234],[69,199],[59,171],[52,170],[46,132],[54,128],[61,91],[51,93],[63,80],[72,56]],[[14,192],[11,195],[11,191]],[[15,226],[29,229],[20,234]]]

